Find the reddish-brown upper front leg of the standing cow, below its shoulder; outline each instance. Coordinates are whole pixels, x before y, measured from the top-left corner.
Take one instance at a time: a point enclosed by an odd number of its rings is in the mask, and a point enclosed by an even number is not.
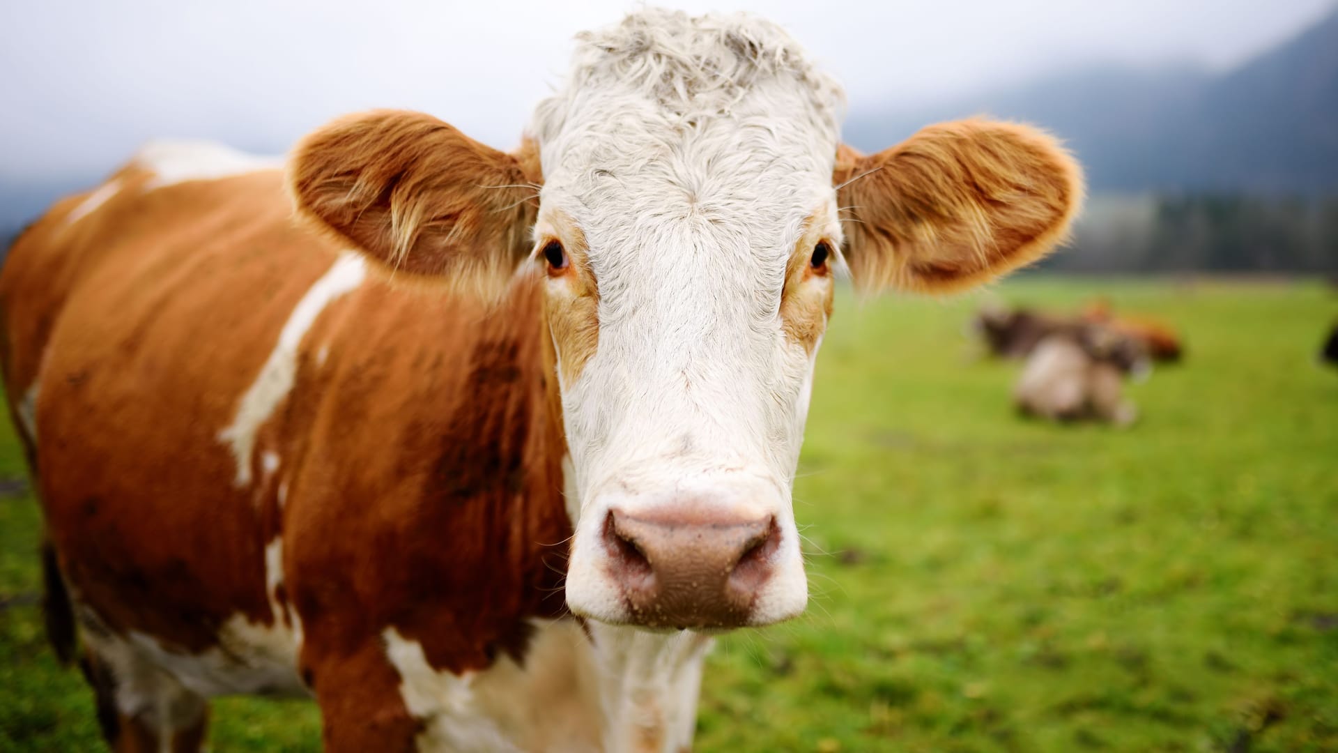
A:
[[[352,653],[304,648],[304,671],[321,707],[325,750],[400,753],[417,750],[421,725],[400,694],[400,677],[373,638]]]

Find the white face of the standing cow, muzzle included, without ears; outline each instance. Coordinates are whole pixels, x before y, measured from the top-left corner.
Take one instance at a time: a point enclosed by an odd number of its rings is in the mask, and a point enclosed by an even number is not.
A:
[[[587,35],[573,80],[533,129],[574,469],[567,602],[665,626],[792,616],[791,484],[842,241],[840,91],[771,24],[672,13]],[[678,535],[689,549],[658,551]],[[709,561],[700,608],[661,604],[680,557]],[[732,587],[744,560],[756,583]],[[658,595],[629,591],[638,577]]]

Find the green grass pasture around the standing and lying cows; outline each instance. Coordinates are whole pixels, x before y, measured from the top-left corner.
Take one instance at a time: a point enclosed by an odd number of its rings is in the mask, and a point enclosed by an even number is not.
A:
[[[1338,750],[1338,372],[1318,284],[1032,277],[1160,316],[1184,364],[1132,429],[1017,418],[967,356],[977,297],[838,311],[795,485],[812,603],[731,635],[700,750]],[[0,438],[0,474],[21,474]],[[37,512],[0,500],[0,750],[84,750],[88,693],[31,603]],[[215,703],[218,750],[314,750],[304,703]]]

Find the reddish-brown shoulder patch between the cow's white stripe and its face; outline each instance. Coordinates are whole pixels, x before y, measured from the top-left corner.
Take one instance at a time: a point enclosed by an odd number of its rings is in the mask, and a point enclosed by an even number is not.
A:
[[[520,280],[484,316],[466,299],[364,285],[340,327],[357,346],[328,375],[298,375],[294,407],[313,425],[294,426],[306,445],[285,553],[313,661],[393,626],[435,669],[479,670],[523,657],[526,618],[563,614],[571,531],[541,296]]]

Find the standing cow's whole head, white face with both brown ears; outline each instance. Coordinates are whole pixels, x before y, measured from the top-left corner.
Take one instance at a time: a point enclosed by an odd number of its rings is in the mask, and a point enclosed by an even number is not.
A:
[[[1046,135],[965,121],[866,157],[839,145],[842,106],[767,21],[644,11],[579,38],[516,154],[397,111],[294,153],[300,209],[401,273],[542,276],[575,612],[701,628],[799,614],[791,485],[834,273],[957,291],[1066,232],[1081,178]]]

